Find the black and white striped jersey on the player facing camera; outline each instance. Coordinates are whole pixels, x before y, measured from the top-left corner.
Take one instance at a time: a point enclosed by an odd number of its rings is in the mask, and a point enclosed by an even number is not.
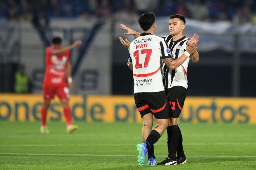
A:
[[[186,46],[188,43],[188,38],[183,36],[181,39],[177,41],[173,41],[173,36],[164,36],[162,37],[167,42],[173,59],[177,59],[184,54],[186,51]],[[164,88],[171,88],[173,86],[183,86],[188,88],[188,65],[189,65],[188,58],[182,65],[177,67],[175,70],[170,70],[163,61],[161,61],[161,68],[162,68],[162,76],[163,76],[163,84]]]

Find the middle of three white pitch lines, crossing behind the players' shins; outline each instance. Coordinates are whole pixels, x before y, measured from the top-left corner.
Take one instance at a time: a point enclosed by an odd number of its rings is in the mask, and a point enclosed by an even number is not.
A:
[[[156,145],[166,145],[157,143]],[[256,143],[183,143],[183,145],[256,145]],[[40,146],[135,146],[135,144],[0,144],[0,147],[40,147]]]

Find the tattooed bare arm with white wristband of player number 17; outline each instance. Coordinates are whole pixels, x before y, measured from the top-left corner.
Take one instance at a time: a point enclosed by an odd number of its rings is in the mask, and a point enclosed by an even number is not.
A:
[[[171,70],[175,70],[177,67],[179,67],[180,65],[182,65],[182,63],[184,63],[184,61],[187,60],[187,58],[196,50],[196,43],[192,42],[191,44],[187,44],[187,51],[182,54],[181,57],[177,58],[176,60],[171,61],[171,58],[165,58],[162,59],[164,61],[164,63],[166,64],[166,66],[171,69]]]

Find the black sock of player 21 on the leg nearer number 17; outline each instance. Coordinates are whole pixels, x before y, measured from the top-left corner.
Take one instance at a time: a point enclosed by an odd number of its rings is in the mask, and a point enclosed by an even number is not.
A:
[[[169,126],[168,131],[171,134],[169,140],[169,150],[168,150],[168,157],[171,159],[175,159],[176,156],[176,149],[178,145],[178,140],[179,140],[179,133],[177,130],[177,126]]]

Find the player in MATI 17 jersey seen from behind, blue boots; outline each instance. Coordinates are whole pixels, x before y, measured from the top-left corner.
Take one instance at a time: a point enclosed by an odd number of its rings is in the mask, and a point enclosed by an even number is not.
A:
[[[142,133],[144,132],[142,136],[145,142],[137,145],[137,150],[139,151],[138,162],[139,165],[144,165],[145,155],[148,153],[148,165],[155,165],[155,156],[150,155],[150,151],[153,150],[153,144],[158,141],[167,128],[169,116],[169,108],[160,71],[160,59],[163,60],[168,68],[177,68],[187,60],[190,53],[196,50],[196,44],[192,42],[191,45],[187,46],[187,53],[179,59],[173,60],[170,55],[171,51],[164,39],[154,35],[156,29],[154,13],[141,15],[138,22],[143,33],[130,44],[128,67],[133,70],[134,98],[143,120],[142,129],[150,132],[145,140],[146,132],[142,131]],[[151,129],[153,125],[153,115],[156,118],[157,125],[150,131],[149,128]],[[176,165],[177,161],[173,159],[169,164]]]

